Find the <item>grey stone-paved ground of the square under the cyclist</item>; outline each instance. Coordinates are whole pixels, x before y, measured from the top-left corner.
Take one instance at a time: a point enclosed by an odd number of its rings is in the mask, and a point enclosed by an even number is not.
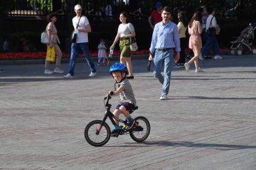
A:
[[[43,64],[2,65],[0,169],[256,169],[255,55],[200,61],[204,73],[173,68],[166,101],[146,62],[133,60],[130,82],[133,117],[148,118],[149,138],[123,135],[103,147],[87,144],[84,127],[103,118],[114,83],[106,67],[89,78],[87,64],[77,63],[66,80],[43,74]]]

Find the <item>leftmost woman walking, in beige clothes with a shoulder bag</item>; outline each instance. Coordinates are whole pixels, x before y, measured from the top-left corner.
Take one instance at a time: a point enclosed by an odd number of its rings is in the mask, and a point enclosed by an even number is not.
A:
[[[52,74],[52,73],[64,73],[63,70],[60,68],[61,56],[62,52],[58,44],[60,44],[60,40],[58,39],[57,29],[54,23],[57,21],[57,14],[48,14],[47,19],[49,21],[48,25],[46,26],[46,31],[49,40],[49,46],[54,48],[55,55],[56,55],[56,64],[54,71],[50,70],[50,62],[45,59],[45,74]]]

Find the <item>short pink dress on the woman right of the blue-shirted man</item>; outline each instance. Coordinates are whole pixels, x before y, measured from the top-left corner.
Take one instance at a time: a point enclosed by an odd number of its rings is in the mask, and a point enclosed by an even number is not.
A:
[[[194,49],[194,50],[202,49],[201,33],[202,33],[201,23],[198,20],[194,20],[191,28],[189,28],[189,34],[190,34],[189,48],[190,49]]]

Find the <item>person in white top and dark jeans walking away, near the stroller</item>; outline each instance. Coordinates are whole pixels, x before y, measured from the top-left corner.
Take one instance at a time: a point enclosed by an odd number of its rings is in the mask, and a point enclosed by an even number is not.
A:
[[[211,7],[208,7],[207,12],[209,16],[206,21],[206,28],[205,28],[206,32],[208,31],[209,28],[217,28],[217,22],[214,16],[215,10]],[[217,41],[215,31],[213,35],[206,34],[206,43],[202,48],[201,55],[208,56],[211,48],[213,49],[214,59],[222,59],[222,57],[219,55],[220,53],[219,43]]]

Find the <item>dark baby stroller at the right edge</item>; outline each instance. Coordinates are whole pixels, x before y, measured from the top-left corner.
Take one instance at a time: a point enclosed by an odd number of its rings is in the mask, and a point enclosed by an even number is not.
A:
[[[256,54],[256,49],[252,48],[253,40],[254,40],[254,30],[256,29],[256,23],[251,24],[241,32],[239,37],[235,41],[231,41],[232,44],[230,47],[230,53],[232,55],[242,55],[245,52],[245,49],[249,49],[250,52]]]

